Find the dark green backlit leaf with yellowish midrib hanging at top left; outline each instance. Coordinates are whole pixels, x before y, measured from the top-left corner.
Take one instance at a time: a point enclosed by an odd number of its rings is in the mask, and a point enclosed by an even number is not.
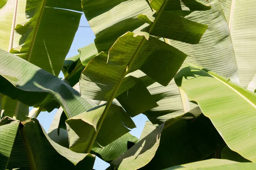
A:
[[[18,46],[13,46],[11,52],[58,76],[78,29],[81,14],[48,8],[45,3],[46,0],[26,1],[26,18],[29,21],[15,26],[21,37]]]

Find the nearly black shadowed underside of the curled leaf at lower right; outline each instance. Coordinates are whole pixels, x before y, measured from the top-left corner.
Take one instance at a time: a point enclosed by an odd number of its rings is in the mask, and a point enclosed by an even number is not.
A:
[[[218,131],[204,115],[194,121],[173,118],[164,124],[156,154],[142,169],[164,169],[201,161],[224,144]]]

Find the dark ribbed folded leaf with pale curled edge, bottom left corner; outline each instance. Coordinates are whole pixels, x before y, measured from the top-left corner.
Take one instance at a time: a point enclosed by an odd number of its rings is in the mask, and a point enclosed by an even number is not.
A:
[[[7,120],[6,120],[7,119]],[[3,123],[2,123],[3,122]],[[1,120],[1,170],[6,168],[36,169],[92,169],[95,156],[75,153],[53,142],[37,119],[17,122],[5,117]],[[8,133],[9,132],[9,133]],[[9,137],[6,135],[8,134]]]

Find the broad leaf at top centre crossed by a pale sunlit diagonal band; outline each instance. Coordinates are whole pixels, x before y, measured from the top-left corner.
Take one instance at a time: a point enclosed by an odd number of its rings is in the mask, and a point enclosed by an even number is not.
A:
[[[82,0],[82,7],[99,52],[108,52],[122,34],[143,26],[137,16],[152,11],[146,0]]]

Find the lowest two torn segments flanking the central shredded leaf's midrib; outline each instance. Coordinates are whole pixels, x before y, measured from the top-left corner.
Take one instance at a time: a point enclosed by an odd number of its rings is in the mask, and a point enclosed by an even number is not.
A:
[[[106,146],[128,133],[130,131],[128,128],[136,127],[121,107],[112,104],[98,130],[97,125],[105,107],[106,105],[101,105],[66,120],[71,150],[79,153],[88,152],[96,131],[98,131],[96,142],[101,146]]]

